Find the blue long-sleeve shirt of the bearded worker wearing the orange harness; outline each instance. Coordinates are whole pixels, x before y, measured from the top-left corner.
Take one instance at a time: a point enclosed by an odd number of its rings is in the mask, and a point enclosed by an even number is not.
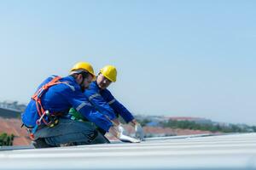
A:
[[[39,87],[41,88],[47,82],[50,82],[53,77],[47,78]],[[61,113],[61,116],[67,115],[70,108],[75,108],[90,122],[95,122],[98,127],[101,127],[108,132],[108,129],[113,125],[108,118],[95,107],[90,104],[84,93],[81,91],[79,84],[72,76],[63,77],[60,79],[60,84],[50,87],[41,97],[41,102],[44,110],[49,113]],[[26,110],[21,115],[22,122],[26,127],[34,127],[38,120],[38,111],[36,102],[31,99],[26,107]]]

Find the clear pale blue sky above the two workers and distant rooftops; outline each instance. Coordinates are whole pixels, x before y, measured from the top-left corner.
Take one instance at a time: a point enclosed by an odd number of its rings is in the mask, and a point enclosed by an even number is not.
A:
[[[0,99],[77,61],[132,112],[256,124],[255,1],[0,1]],[[253,48],[254,47],[254,48]]]

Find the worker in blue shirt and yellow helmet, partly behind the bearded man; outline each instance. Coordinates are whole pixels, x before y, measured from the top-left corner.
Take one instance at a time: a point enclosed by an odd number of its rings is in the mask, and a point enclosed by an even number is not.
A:
[[[96,107],[97,111],[100,111],[110,120],[113,120],[117,125],[120,125],[118,116],[121,116],[125,122],[130,123],[135,127],[136,136],[143,140],[143,127],[137,122],[134,116],[132,116],[131,112],[115,99],[107,89],[112,82],[116,82],[116,77],[117,71],[113,65],[104,66],[96,77],[96,81],[90,84],[90,88],[88,88],[84,94],[87,96],[90,103]],[[78,119],[79,113],[75,111],[73,111],[73,113],[75,119]],[[119,126],[119,128],[121,128],[120,131],[123,130],[121,126]],[[101,132],[102,131],[103,134],[106,132],[104,129],[101,129]]]

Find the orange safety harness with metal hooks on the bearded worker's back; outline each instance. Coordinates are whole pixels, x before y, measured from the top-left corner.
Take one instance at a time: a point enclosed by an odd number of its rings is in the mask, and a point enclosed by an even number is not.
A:
[[[41,97],[47,90],[60,83],[67,83],[67,82],[60,82],[59,80],[61,77],[54,77],[50,82],[44,84],[42,88],[39,88],[38,91],[32,96],[32,99],[35,100],[38,110],[38,116],[39,119],[36,122],[36,126],[32,128],[28,128],[28,132],[30,133],[30,138],[34,140],[34,133],[36,133],[38,126],[41,125],[41,122],[44,122],[44,124],[48,127],[54,127],[56,124],[58,124],[59,120],[57,118],[56,113],[49,113],[48,110],[44,110],[44,107],[41,102]]]

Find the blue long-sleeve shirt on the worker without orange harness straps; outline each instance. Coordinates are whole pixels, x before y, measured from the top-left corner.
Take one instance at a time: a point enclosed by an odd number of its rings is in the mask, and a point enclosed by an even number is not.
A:
[[[117,99],[108,91],[107,88],[101,89],[96,82],[90,83],[90,88],[86,89],[84,94],[90,103],[96,107],[96,110],[108,116],[111,120],[116,118],[115,113],[122,116],[125,122],[131,122],[134,116],[124,105],[120,104]]]

